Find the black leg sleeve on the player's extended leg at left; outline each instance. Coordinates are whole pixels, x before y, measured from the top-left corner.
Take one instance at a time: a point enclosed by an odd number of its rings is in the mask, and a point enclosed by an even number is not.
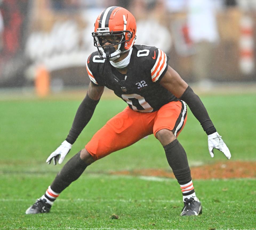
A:
[[[72,157],[61,169],[51,184],[51,189],[54,192],[61,193],[73,181],[79,178],[88,165],[80,158],[79,151]]]

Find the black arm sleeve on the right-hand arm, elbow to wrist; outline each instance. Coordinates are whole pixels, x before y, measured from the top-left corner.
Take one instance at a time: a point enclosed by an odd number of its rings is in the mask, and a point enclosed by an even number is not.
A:
[[[185,101],[189,106],[191,112],[200,122],[203,130],[207,135],[213,134],[216,132],[216,129],[211,121],[205,106],[201,99],[194,93],[194,91],[188,86],[185,92],[179,98],[182,101]]]

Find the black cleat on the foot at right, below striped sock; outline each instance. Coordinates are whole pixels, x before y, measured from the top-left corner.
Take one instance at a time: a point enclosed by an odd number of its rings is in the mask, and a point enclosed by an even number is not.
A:
[[[196,201],[193,197],[185,198],[181,216],[198,216],[199,214],[202,214],[202,206],[199,200]]]

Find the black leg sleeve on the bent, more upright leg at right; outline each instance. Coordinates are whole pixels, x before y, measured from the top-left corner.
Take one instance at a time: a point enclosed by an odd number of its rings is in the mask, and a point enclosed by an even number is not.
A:
[[[186,184],[192,180],[187,154],[177,139],[164,146],[167,161],[173,170],[179,184]]]

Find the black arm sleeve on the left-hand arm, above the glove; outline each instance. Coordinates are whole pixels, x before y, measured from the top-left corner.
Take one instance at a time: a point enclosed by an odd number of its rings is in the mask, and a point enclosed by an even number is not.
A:
[[[77,113],[72,124],[71,129],[69,130],[69,135],[67,135],[66,141],[70,144],[74,144],[79,134],[82,132],[83,128],[90,121],[93,116],[93,112],[98,104],[99,100],[94,101],[86,94],[85,99],[79,105]]]

